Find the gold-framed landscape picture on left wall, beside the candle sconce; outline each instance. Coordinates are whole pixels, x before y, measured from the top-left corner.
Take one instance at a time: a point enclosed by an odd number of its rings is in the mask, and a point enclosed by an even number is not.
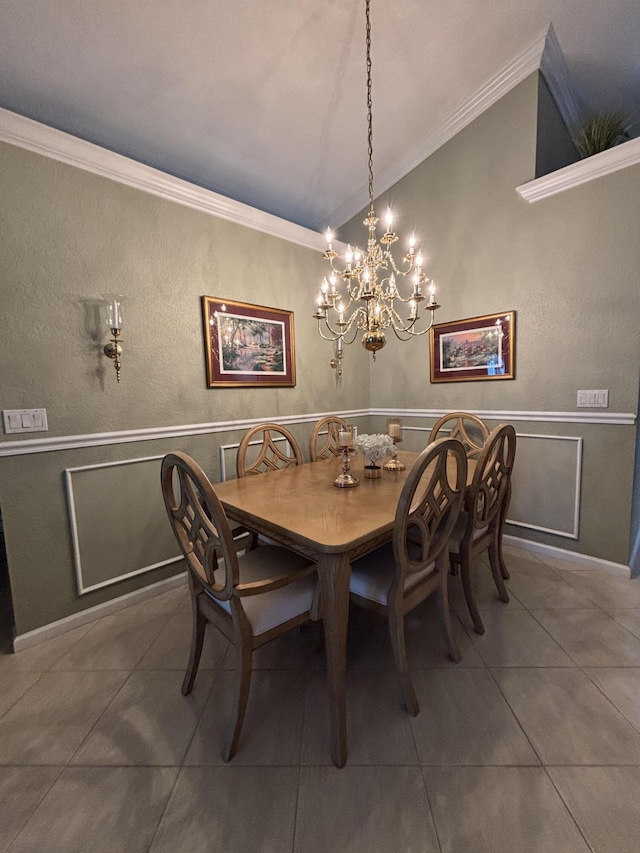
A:
[[[296,384],[293,311],[202,297],[209,388]]]

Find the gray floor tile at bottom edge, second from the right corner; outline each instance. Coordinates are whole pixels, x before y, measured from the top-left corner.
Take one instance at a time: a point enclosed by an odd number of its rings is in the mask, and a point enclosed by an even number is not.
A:
[[[442,853],[589,853],[542,767],[426,767]]]

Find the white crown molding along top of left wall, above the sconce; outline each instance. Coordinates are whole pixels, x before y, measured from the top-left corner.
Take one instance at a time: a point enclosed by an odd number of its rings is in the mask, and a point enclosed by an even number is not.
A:
[[[125,186],[174,201],[200,213],[217,216],[254,231],[279,237],[307,249],[323,252],[322,234],[265,213],[248,204],[183,181],[115,151],[101,148],[70,133],[0,108],[0,142],[41,154]]]

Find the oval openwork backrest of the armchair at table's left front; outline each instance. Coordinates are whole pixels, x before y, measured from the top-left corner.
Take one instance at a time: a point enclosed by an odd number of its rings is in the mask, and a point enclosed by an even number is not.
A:
[[[164,504],[187,566],[215,598],[229,600],[238,584],[238,555],[213,486],[186,453],[165,456],[161,476]]]

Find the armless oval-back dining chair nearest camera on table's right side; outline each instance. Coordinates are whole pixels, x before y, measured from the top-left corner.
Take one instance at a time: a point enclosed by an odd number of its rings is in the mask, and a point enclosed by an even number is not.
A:
[[[449,656],[460,652],[453,636],[447,577],[449,537],[462,507],[467,457],[459,441],[442,438],[422,451],[402,488],[393,540],[356,560],[351,567],[354,604],[386,617],[404,704],[415,716],[420,706],[413,688],[404,636],[405,614],[436,593]]]

